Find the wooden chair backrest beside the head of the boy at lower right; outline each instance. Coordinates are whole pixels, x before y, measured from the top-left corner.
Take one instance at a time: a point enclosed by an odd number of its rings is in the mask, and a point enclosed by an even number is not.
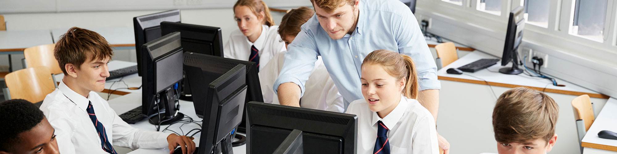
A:
[[[591,124],[594,123],[594,108],[591,106],[589,95],[580,95],[572,100],[574,108],[574,119],[583,120],[585,122],[585,131],[589,130]]]

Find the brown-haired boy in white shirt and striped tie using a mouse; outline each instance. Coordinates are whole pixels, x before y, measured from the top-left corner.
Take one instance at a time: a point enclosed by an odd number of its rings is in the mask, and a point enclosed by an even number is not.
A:
[[[133,128],[96,93],[105,87],[112,55],[110,44],[94,31],[73,27],[57,41],[54,57],[64,78],[40,109],[56,129],[60,153],[115,154],[112,145],[133,150],[168,147],[170,153],[180,145],[183,153],[193,153],[193,140]]]

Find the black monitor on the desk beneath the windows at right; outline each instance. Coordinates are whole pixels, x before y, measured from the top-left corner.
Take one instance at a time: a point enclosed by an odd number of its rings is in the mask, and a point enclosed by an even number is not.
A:
[[[499,69],[500,73],[507,75],[518,75],[523,73],[518,68],[518,46],[523,41],[523,29],[525,26],[525,20],[523,17],[523,7],[516,7],[510,12],[510,19],[508,19],[508,31],[505,34],[505,44],[503,45],[502,66],[512,62],[512,67],[506,67]]]

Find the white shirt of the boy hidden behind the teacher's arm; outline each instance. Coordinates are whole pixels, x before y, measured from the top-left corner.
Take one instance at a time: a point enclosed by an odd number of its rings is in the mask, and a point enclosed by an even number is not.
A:
[[[286,53],[287,51],[282,51],[275,54],[259,72],[259,83],[262,87],[263,102],[265,103],[281,104],[278,101],[278,95],[272,90],[272,86],[278,78],[281,68],[283,68]],[[307,80],[306,91],[300,99],[300,107],[342,113],[347,105],[349,104],[345,104],[343,101],[343,97],[334,86],[334,81],[330,78],[326,66],[319,58],[315,62],[315,68],[313,68],[309,80]]]

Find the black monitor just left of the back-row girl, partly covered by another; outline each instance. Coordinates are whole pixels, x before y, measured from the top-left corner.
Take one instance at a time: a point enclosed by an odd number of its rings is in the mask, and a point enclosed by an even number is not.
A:
[[[184,52],[223,57],[221,28],[187,23],[161,22],[160,30],[163,35],[176,31],[182,33],[182,48]],[[189,84],[185,84],[186,82],[185,78],[182,82],[183,84],[181,84],[180,99],[193,101],[191,87]]]

